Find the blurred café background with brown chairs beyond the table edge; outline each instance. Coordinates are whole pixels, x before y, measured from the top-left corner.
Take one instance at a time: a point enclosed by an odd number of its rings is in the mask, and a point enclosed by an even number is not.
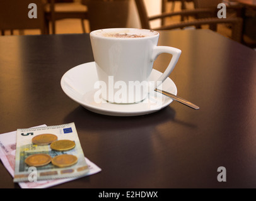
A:
[[[0,30],[4,36],[90,33],[100,28],[115,27],[173,30],[186,25],[185,28],[210,28],[255,48],[256,1],[241,0],[254,6],[238,1],[240,0],[8,0],[0,2]],[[28,8],[31,3],[36,4],[37,8]],[[226,6],[226,16],[231,20],[224,24],[224,21],[220,23],[216,20],[219,11],[217,6],[220,3]],[[33,13],[32,9],[37,13]],[[36,14],[37,19],[28,18],[28,12]],[[164,15],[167,16],[165,19]],[[153,16],[158,18],[151,19]],[[200,20],[209,18],[212,18],[211,21],[199,24]],[[196,23],[184,25],[188,21]]]

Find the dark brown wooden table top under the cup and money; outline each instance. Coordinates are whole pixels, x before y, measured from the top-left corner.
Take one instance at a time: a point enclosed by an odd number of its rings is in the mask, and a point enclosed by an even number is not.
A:
[[[88,35],[0,37],[0,133],[74,122],[96,175],[52,188],[255,188],[256,52],[208,30],[161,31],[182,55],[170,78],[199,111],[172,102],[144,116],[87,111],[61,77],[93,61]],[[170,60],[160,55],[154,68]],[[218,182],[219,166],[226,182]],[[0,188],[18,188],[0,164]]]

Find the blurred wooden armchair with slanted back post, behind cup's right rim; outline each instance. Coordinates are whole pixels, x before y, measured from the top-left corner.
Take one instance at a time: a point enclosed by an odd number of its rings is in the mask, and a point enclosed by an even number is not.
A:
[[[204,0],[206,1],[206,0]],[[144,0],[135,0],[137,11],[139,13],[139,18],[141,20],[141,26],[145,29],[151,29],[150,21],[154,19],[163,19],[170,16],[195,16],[197,14],[211,14],[211,16],[217,16],[216,8],[198,8],[198,9],[189,9],[189,10],[182,10],[178,12],[172,13],[163,13],[156,16],[148,16],[146,11],[146,6],[144,4]],[[158,28],[154,28],[154,30],[174,30],[178,28],[185,28],[187,26],[195,26],[195,28],[199,28],[203,24],[210,25],[214,24],[231,24],[231,38],[235,41],[241,41],[241,31],[243,26],[243,20],[241,18],[200,18],[200,19],[193,19],[189,21],[181,21],[178,23],[173,23],[170,25],[164,25]]]

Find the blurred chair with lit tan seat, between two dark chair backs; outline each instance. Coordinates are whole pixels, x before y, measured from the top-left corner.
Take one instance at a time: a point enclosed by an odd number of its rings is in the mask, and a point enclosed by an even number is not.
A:
[[[46,1],[46,0],[44,0]],[[55,21],[59,19],[81,19],[83,33],[86,33],[84,19],[88,19],[87,7],[74,0],[47,0],[45,4],[45,18],[52,26],[52,34],[56,32]]]

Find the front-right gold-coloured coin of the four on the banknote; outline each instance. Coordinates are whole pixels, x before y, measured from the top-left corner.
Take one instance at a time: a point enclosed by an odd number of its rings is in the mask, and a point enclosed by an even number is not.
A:
[[[59,155],[52,158],[52,164],[60,168],[74,165],[78,162],[78,157],[74,155]]]

